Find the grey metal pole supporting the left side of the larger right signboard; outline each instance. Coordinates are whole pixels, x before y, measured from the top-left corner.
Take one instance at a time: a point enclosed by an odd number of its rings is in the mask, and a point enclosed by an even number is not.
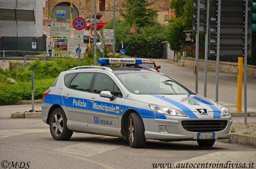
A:
[[[221,0],[218,0],[217,51],[216,51],[216,94],[215,94],[216,102],[218,102],[218,100],[219,100],[220,34],[221,34]]]

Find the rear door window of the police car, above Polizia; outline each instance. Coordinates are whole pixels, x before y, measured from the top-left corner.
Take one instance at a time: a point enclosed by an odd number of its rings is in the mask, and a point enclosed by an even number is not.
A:
[[[92,72],[78,73],[76,77],[71,81],[70,88],[84,92],[89,92],[91,78],[93,77]]]

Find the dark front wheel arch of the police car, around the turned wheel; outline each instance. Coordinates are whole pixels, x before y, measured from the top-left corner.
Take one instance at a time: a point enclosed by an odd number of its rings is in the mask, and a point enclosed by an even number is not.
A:
[[[128,121],[129,115],[131,113],[138,113],[138,112],[135,109],[127,109],[124,112],[124,114],[122,115],[122,119],[121,119],[121,134],[125,138],[128,138],[128,136],[127,136],[127,121]],[[141,117],[141,115],[139,113],[138,113],[138,115]],[[143,120],[142,120],[142,123],[143,123]],[[144,126],[144,123],[143,123],[143,126]]]

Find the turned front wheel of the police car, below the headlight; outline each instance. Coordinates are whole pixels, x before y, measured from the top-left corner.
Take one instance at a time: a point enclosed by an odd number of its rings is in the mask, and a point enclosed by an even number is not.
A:
[[[141,148],[146,144],[143,121],[138,113],[131,113],[128,117],[128,140],[132,148]]]

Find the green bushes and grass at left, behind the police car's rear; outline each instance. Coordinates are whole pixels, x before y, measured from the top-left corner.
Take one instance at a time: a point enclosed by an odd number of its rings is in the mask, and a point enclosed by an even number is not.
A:
[[[80,60],[80,66],[93,65],[93,52],[86,52]],[[115,56],[106,51],[106,57]],[[11,62],[9,70],[0,68],[0,103],[17,102],[20,100],[31,100],[31,71],[34,71],[34,97],[35,100],[42,99],[44,92],[51,86],[60,72],[67,71],[77,66],[77,59],[59,54],[58,59],[40,60],[36,58],[24,67],[19,67],[18,62]],[[97,51],[97,59],[102,57],[102,52]],[[13,78],[17,84],[11,83],[7,78]]]

